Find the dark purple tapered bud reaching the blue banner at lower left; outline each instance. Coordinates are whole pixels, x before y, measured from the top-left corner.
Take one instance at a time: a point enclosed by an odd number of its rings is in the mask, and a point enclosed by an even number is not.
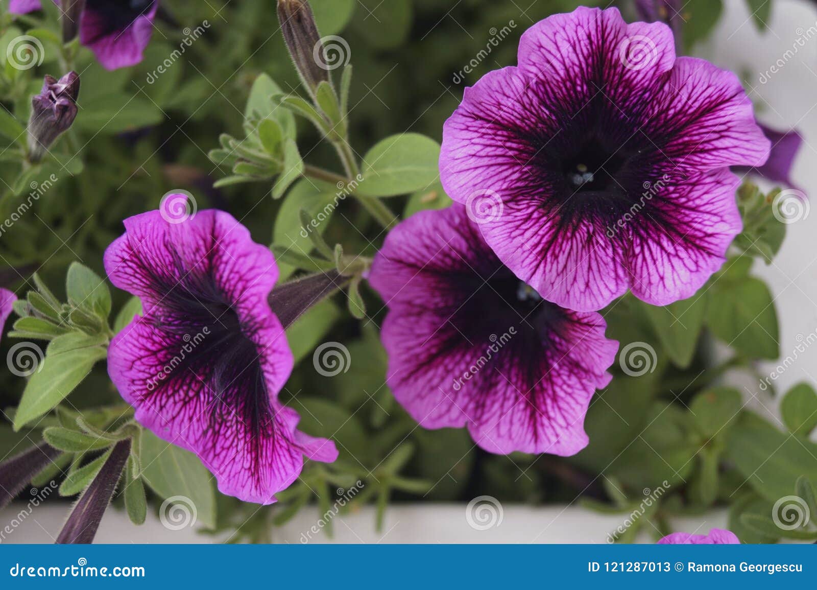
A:
[[[114,446],[105,465],[85,490],[83,497],[79,498],[68,521],[65,521],[60,536],[56,538],[57,543],[92,543],[130,453],[130,440],[120,440]]]

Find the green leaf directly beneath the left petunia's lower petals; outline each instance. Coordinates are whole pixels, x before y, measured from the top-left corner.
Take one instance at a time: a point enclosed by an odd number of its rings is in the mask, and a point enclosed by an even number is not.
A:
[[[209,528],[216,525],[216,497],[210,472],[189,451],[158,438],[150,431],[141,435],[142,476],[150,489],[167,499],[182,496],[190,499],[199,521]]]

